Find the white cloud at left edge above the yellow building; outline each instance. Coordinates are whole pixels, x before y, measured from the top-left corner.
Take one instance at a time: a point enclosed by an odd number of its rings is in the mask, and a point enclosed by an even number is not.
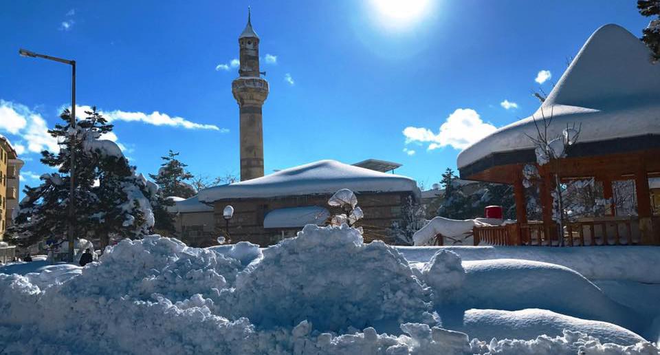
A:
[[[39,153],[44,149],[54,153],[60,150],[57,139],[48,133],[46,121],[27,106],[0,100],[0,132],[5,131],[27,142],[27,150]],[[16,144],[17,153],[25,152],[25,145]]]

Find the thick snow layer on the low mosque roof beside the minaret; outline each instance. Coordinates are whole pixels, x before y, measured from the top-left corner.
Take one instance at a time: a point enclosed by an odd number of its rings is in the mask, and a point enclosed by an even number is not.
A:
[[[234,198],[315,195],[339,189],[360,192],[412,191],[417,183],[410,177],[381,173],[336,160],[319,160],[252,180],[214,186],[199,191],[199,200],[213,202]]]

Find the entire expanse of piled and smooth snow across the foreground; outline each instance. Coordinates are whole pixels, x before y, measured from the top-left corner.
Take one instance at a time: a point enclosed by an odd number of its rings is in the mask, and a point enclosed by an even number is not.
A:
[[[308,225],[265,249],[126,239],[85,268],[43,261],[0,268],[0,349],[660,354],[648,342],[660,334],[659,254],[395,248],[364,244],[345,225]]]

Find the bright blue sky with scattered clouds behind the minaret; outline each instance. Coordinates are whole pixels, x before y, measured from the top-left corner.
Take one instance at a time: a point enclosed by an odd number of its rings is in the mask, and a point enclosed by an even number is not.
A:
[[[427,0],[403,20],[375,2],[250,2],[271,89],[263,107],[266,173],[377,158],[403,164],[397,173],[430,186],[455,168],[465,144],[533,113],[531,92],[549,92],[566,58],[600,25],[640,36],[648,23],[623,0]],[[77,61],[78,105],[110,113],[138,171],[154,173],[173,149],[192,173],[239,173],[230,87],[248,1],[2,7],[0,133],[28,160],[23,183],[50,171],[34,151],[52,146],[43,130],[69,105],[70,72],[22,58],[19,47]],[[267,54],[276,58],[266,61]],[[541,71],[551,77],[539,84]]]

